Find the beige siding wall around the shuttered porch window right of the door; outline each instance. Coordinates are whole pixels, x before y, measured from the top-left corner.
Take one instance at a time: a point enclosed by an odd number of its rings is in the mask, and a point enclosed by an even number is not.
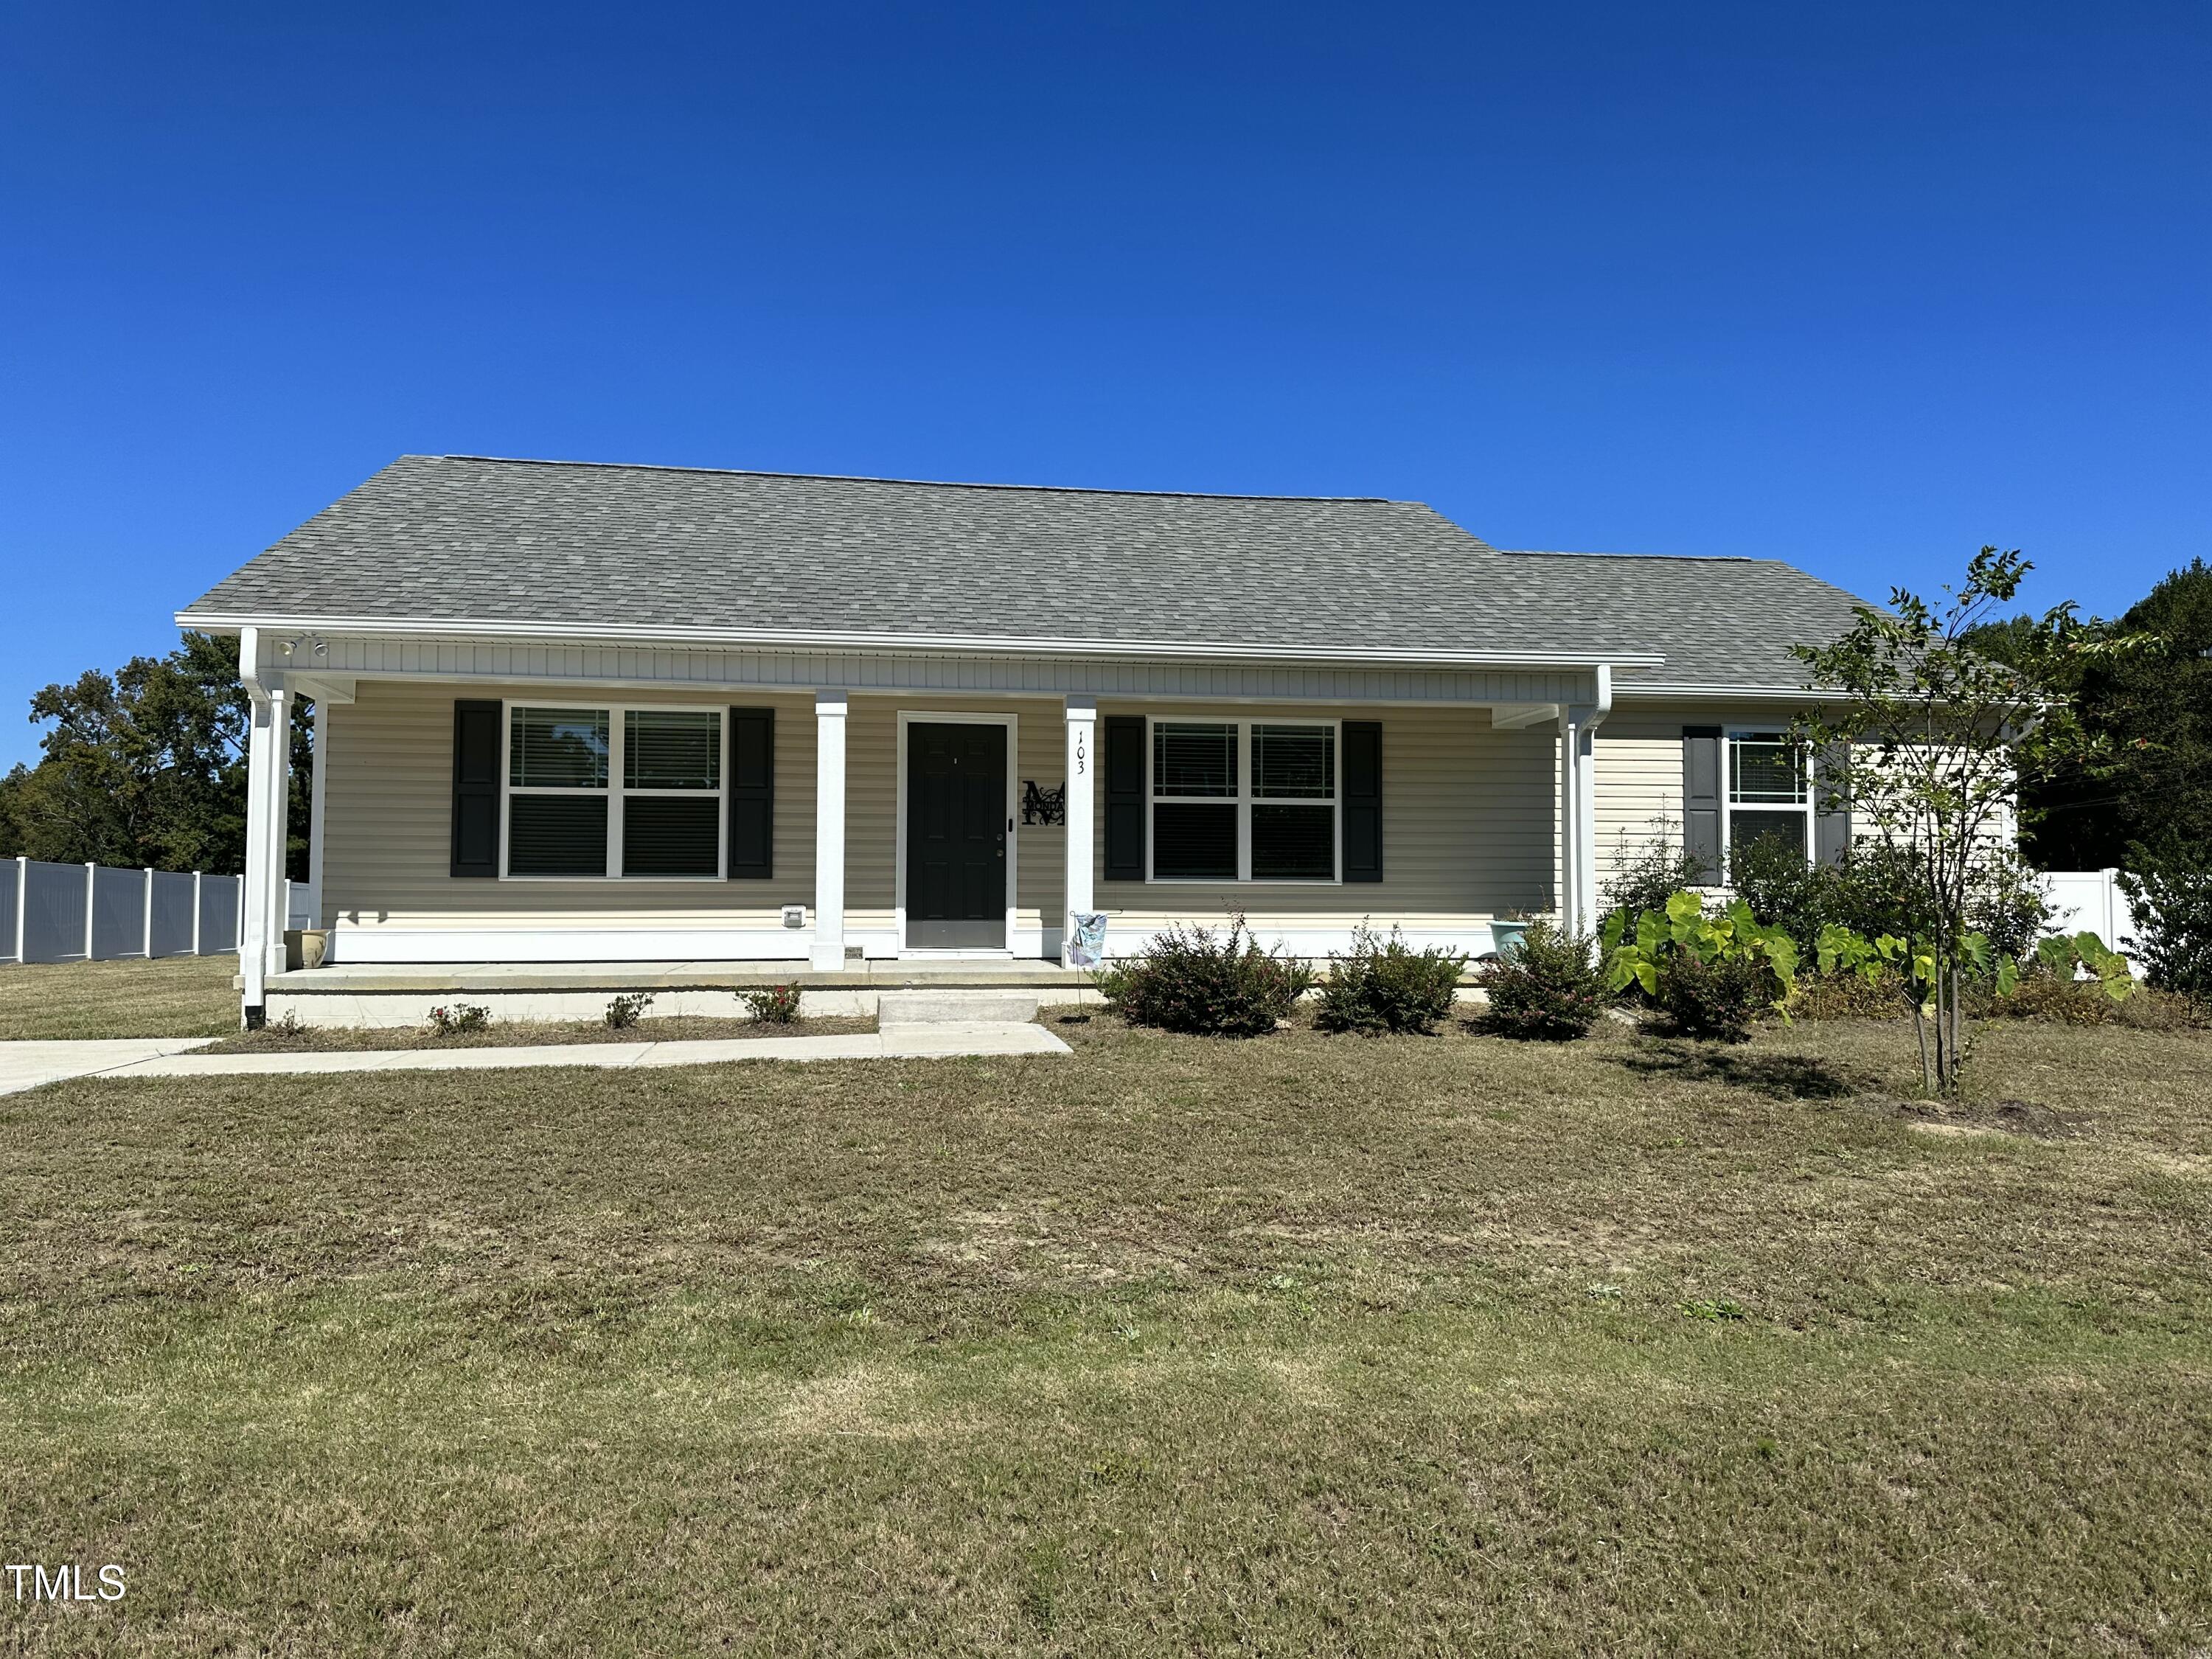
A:
[[[1093,880],[1115,933],[1146,933],[1179,918],[1219,922],[1232,909],[1245,911],[1263,936],[1343,929],[1363,916],[1378,927],[1464,929],[1500,911],[1553,905],[1559,748],[1551,728],[1498,732],[1484,708],[1099,703],[1099,717],[1108,714],[1383,723],[1380,883],[1106,880],[1099,810]]]

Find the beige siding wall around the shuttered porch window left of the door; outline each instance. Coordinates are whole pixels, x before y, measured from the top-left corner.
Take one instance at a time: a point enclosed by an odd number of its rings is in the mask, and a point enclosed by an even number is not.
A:
[[[553,708],[655,703],[776,710],[772,880],[453,878],[453,701],[513,697]],[[783,905],[814,905],[814,699],[591,690],[580,686],[411,686],[365,679],[323,710],[323,920],[347,927],[776,927]]]

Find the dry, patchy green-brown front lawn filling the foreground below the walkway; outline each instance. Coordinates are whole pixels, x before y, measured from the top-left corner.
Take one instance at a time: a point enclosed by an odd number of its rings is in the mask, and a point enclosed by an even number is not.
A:
[[[2212,1644],[2212,1040],[1062,1029],[0,1097],[0,1648]]]

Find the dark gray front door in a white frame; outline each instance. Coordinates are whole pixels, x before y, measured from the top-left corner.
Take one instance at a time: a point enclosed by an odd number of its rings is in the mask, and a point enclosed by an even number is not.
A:
[[[1006,728],[907,728],[907,947],[1006,949]]]

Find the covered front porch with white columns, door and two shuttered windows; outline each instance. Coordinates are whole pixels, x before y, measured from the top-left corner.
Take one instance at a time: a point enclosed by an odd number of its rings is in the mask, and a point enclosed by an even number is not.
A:
[[[714,993],[726,1011],[730,989],[770,982],[823,1011],[916,984],[1073,1000],[1075,914],[1108,916],[1108,953],[1234,909],[1321,958],[1360,920],[1480,956],[1498,916],[1595,911],[1590,732],[1608,664],[823,657],[254,628],[241,644],[248,1018],[431,995],[591,1018],[637,989]],[[285,971],[279,734],[296,697],[316,714],[310,889],[327,962]],[[549,781],[518,754],[575,728],[584,774]],[[639,770],[684,730],[710,734],[710,768]],[[1223,757],[1199,785],[1186,774],[1203,768],[1168,754],[1192,732]],[[1270,794],[1267,745],[1303,757],[1296,799]],[[681,827],[664,801],[710,827],[706,863],[637,867],[641,849],[668,858]],[[1170,847],[1210,812],[1219,834],[1197,841],[1212,854]],[[1301,814],[1307,830],[1283,841]],[[575,847],[544,825],[575,821],[591,867],[546,869]],[[1168,852],[1223,863],[1192,874]]]

